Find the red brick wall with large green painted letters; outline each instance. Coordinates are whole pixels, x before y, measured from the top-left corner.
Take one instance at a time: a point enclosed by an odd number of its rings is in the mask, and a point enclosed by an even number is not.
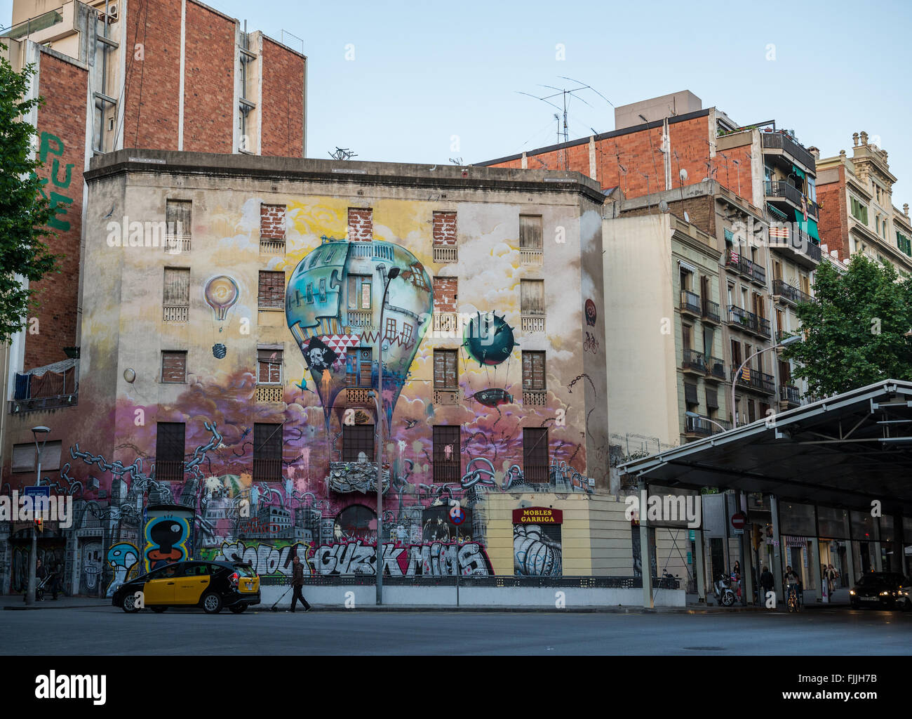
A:
[[[51,204],[63,208],[51,221],[54,237],[46,239],[59,274],[31,283],[38,307],[35,334],[26,330],[25,369],[66,359],[63,348],[76,344],[79,302],[79,238],[82,233],[82,171],[85,166],[87,73],[68,62],[42,53],[38,91],[45,105],[38,109],[38,156],[44,166],[38,176]]]

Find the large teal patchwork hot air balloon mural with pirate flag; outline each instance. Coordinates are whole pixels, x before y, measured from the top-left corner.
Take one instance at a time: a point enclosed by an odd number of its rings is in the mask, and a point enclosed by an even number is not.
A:
[[[393,267],[399,267],[399,277],[389,282],[380,328],[380,302]],[[340,391],[376,389],[381,340],[383,401],[391,422],[432,307],[430,276],[399,245],[324,238],[305,255],[288,280],[285,318],[327,425]]]

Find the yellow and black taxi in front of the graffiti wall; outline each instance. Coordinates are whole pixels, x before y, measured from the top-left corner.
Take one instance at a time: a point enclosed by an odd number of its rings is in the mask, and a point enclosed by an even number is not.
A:
[[[207,614],[218,614],[227,607],[240,614],[260,603],[260,578],[254,568],[241,562],[175,562],[124,582],[114,592],[112,603],[130,613],[142,607],[155,612],[200,607]]]

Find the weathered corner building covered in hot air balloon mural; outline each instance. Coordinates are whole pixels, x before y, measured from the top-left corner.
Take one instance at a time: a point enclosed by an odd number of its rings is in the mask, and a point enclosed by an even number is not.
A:
[[[178,507],[187,556],[370,573],[378,464],[390,574],[634,573],[608,494],[596,182],[150,150],[87,180],[78,406],[12,415],[3,469],[32,484],[29,428],[50,428],[43,479],[78,518],[39,546],[69,587],[88,567],[111,591],[118,545],[146,566],[153,505]]]

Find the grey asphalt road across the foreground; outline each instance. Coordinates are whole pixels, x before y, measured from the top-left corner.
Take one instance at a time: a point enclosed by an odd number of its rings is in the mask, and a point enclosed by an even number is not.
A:
[[[0,654],[909,654],[912,613],[0,611]]]

